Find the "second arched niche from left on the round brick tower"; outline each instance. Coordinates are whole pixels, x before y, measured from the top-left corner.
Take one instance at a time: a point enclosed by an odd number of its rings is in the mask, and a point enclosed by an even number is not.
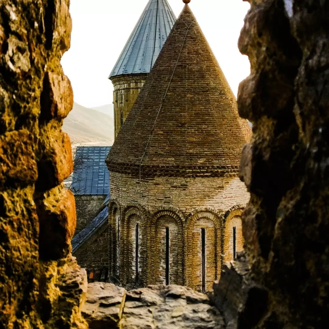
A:
[[[145,285],[147,271],[147,219],[142,210],[128,207],[119,226],[120,281],[127,289]]]

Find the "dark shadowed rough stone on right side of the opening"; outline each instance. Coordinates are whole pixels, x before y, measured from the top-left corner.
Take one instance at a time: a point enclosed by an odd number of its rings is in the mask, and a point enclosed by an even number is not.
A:
[[[247,264],[241,256],[225,270],[215,300],[230,328],[324,328],[329,1],[250,3],[239,48],[251,74],[238,95],[240,115],[253,123],[240,169],[251,193],[242,215]],[[237,289],[223,300],[228,282]]]

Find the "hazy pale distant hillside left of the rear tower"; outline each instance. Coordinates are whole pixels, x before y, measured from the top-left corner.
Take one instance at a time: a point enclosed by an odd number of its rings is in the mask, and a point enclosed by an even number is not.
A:
[[[63,131],[68,133],[76,145],[112,145],[113,122],[113,111],[105,114],[74,103],[72,111],[64,119]]]

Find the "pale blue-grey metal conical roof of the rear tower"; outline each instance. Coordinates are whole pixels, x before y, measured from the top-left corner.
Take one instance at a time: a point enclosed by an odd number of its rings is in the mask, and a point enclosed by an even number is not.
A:
[[[149,73],[175,21],[167,0],[150,0],[109,78],[120,74]]]

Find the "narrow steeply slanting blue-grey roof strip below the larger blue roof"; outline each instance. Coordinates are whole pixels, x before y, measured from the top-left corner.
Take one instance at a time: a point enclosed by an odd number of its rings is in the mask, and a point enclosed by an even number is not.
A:
[[[109,208],[106,206],[90,223],[89,225],[76,234],[71,240],[72,252],[79,249],[94,233],[96,233],[105,222],[108,220]]]

